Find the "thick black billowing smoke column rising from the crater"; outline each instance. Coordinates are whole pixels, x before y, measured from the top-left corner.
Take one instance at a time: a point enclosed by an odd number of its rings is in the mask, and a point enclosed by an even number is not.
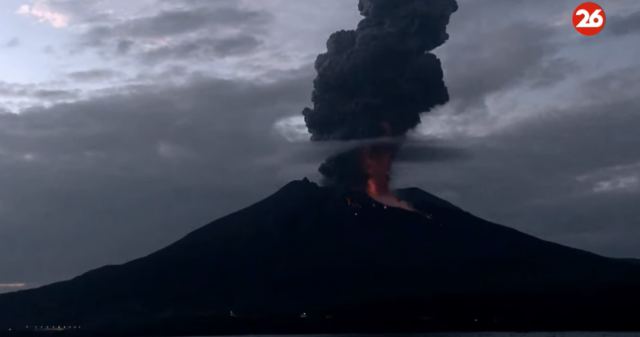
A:
[[[316,60],[314,107],[303,111],[312,140],[402,138],[421,113],[446,103],[442,66],[429,51],[448,39],[457,8],[455,0],[360,0],[358,28],[334,33]],[[396,150],[364,146],[320,171],[333,183],[387,193]]]

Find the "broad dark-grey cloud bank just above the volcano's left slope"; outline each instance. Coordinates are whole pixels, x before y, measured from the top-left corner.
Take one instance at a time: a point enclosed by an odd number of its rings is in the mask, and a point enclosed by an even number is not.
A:
[[[144,255],[305,175],[281,166],[289,151],[268,126],[306,103],[310,76],[273,80],[194,78],[0,115],[2,282]]]

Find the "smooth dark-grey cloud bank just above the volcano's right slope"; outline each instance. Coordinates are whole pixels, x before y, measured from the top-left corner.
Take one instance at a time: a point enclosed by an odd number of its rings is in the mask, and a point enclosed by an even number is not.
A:
[[[618,97],[460,141],[471,158],[402,165],[399,184],[549,240],[639,256],[640,210],[631,204],[640,197],[640,100]]]

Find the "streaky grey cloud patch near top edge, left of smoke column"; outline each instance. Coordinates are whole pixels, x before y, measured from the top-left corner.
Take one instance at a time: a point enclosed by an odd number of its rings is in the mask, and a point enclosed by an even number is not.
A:
[[[155,64],[245,54],[260,44],[270,14],[237,3],[212,4],[184,2],[146,17],[90,25],[80,46],[98,48],[106,57],[134,56]]]

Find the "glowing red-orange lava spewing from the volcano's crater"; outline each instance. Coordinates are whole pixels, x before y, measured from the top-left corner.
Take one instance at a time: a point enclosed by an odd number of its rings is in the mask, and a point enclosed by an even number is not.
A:
[[[411,205],[395,196],[389,187],[396,150],[395,146],[390,145],[371,145],[362,150],[362,166],[367,174],[367,194],[389,207],[415,211]]]

